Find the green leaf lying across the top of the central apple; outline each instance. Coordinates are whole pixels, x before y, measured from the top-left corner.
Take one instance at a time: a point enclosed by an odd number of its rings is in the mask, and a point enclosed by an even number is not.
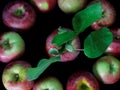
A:
[[[65,30],[65,29],[63,29]],[[57,34],[53,40],[52,40],[52,44],[55,44],[57,46],[61,46],[65,43],[67,43],[70,40],[73,40],[76,37],[76,34],[74,31],[72,30],[67,30],[64,33],[61,34]]]

